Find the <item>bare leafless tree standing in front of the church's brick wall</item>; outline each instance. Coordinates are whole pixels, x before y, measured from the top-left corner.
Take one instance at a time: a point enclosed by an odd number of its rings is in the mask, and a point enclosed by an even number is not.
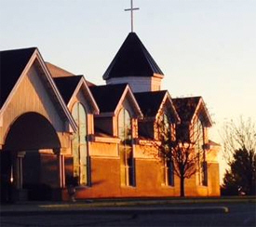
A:
[[[161,159],[167,160],[174,174],[180,178],[180,196],[185,196],[185,179],[190,179],[197,171],[203,175],[202,184],[207,184],[204,127],[199,118],[193,123],[182,122],[176,127],[170,124],[170,120],[171,117],[165,112],[158,115],[155,147]]]

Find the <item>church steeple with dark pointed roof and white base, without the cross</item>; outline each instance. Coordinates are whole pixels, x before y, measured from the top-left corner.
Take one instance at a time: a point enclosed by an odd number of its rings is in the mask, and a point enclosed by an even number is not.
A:
[[[103,74],[107,84],[128,83],[135,92],[160,90],[163,77],[164,73],[136,33],[128,33]]]

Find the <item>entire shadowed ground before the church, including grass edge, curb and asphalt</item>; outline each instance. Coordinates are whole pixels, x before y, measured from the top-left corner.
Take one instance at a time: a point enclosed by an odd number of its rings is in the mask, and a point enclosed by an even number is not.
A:
[[[24,202],[1,206],[1,227],[256,226],[255,197]]]

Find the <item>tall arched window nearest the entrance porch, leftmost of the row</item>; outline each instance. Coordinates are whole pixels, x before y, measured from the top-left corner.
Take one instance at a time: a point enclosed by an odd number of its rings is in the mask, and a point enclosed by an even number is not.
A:
[[[80,185],[88,185],[87,113],[84,106],[76,102],[72,109],[72,115],[78,127],[74,140],[72,140],[74,177],[78,178]]]

